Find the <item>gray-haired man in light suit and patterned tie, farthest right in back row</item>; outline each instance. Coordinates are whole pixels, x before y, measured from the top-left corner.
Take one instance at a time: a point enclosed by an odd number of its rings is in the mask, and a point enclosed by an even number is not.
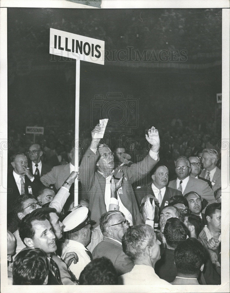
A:
[[[203,149],[202,164],[204,170],[200,173],[200,177],[210,180],[213,190],[221,187],[221,171],[217,167],[218,158],[219,156],[215,149]]]

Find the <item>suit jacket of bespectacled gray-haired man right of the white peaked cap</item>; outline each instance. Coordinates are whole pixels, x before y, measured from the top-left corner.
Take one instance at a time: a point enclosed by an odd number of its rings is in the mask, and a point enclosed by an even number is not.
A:
[[[93,259],[102,256],[109,258],[118,275],[130,272],[134,266],[133,261],[122,250],[122,245],[106,237],[94,248],[92,256]]]

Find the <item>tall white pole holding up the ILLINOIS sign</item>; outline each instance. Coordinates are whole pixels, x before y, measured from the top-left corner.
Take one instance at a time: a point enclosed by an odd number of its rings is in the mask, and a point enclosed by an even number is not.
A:
[[[74,170],[78,172],[78,148],[79,148],[79,103],[80,103],[80,56],[76,59],[76,90],[75,90],[75,162]],[[78,180],[74,183],[74,206],[78,205]]]

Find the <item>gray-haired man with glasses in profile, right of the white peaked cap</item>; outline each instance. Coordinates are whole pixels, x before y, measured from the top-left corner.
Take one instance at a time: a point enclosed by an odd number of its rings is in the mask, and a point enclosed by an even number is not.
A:
[[[94,248],[93,259],[105,256],[113,263],[117,274],[130,272],[133,261],[123,252],[122,237],[128,228],[128,220],[118,211],[106,212],[100,217],[100,229],[104,239]]]

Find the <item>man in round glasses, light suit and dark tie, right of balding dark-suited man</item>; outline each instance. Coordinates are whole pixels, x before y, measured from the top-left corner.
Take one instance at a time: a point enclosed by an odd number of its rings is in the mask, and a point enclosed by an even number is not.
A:
[[[180,156],[175,163],[177,178],[169,182],[168,186],[180,190],[183,195],[190,191],[198,193],[202,199],[212,203],[215,200],[214,191],[207,182],[191,177],[191,163],[185,156]]]

